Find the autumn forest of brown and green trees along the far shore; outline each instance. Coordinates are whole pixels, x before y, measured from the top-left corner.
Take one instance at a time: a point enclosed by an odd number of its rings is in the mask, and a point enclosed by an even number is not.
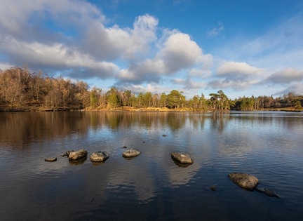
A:
[[[228,111],[289,108],[302,110],[303,95],[288,93],[283,98],[272,96],[240,97],[231,100],[223,91],[210,93],[210,98],[194,95],[187,100],[182,91],[170,93],[109,91],[89,88],[84,81],[72,81],[47,74],[31,73],[28,69],[0,69],[0,111],[168,109],[184,111]]]

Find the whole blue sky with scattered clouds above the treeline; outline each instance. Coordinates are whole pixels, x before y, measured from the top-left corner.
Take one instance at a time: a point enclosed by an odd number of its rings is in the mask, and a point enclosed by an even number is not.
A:
[[[302,0],[0,0],[0,69],[189,100],[303,94]]]

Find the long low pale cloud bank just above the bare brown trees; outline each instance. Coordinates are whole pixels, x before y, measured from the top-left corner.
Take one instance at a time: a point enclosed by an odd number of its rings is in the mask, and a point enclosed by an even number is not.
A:
[[[119,70],[119,67],[112,62],[97,61],[88,54],[67,48],[60,43],[46,45],[39,42],[28,43],[7,38],[0,43],[0,46],[8,55],[13,55],[17,62],[21,63],[26,58],[30,58],[26,60],[29,67],[47,67],[48,69],[53,67],[60,69],[84,67],[90,70],[95,69],[99,73],[102,72],[107,77]],[[83,78],[93,76],[83,76]]]

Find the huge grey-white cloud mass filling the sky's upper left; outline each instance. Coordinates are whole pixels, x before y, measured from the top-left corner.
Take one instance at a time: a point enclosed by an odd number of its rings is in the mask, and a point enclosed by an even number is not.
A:
[[[105,16],[86,1],[20,0],[18,6],[15,1],[3,3],[6,4],[0,8],[0,55],[6,56],[3,64],[27,64],[32,69],[61,72],[68,69],[70,76],[83,74],[83,78],[105,79],[119,71],[114,60],[137,60],[148,53],[157,39],[159,21],[151,15],[138,16],[132,29],[122,29],[118,25],[105,27]],[[46,23],[50,23],[49,27]],[[87,73],[79,73],[79,69]],[[138,68],[128,72],[133,69]]]

